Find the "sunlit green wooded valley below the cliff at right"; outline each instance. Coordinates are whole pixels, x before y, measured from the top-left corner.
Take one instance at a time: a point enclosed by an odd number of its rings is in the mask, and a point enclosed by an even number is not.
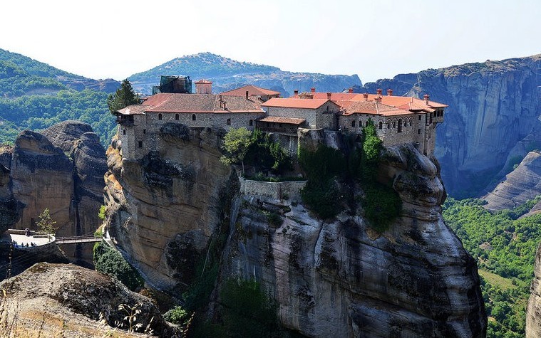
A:
[[[520,216],[540,199],[537,196],[498,213],[486,211],[480,199],[449,198],[443,206],[445,223],[478,262],[489,316],[487,337],[524,337],[535,253],[541,241],[541,213]]]

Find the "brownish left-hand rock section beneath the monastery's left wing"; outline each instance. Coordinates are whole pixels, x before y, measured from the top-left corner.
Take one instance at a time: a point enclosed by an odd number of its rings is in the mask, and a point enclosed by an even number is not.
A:
[[[113,140],[105,175],[110,236],[143,275],[171,289],[191,282],[220,223],[230,169],[220,162],[223,131],[166,124],[155,152],[122,157]]]

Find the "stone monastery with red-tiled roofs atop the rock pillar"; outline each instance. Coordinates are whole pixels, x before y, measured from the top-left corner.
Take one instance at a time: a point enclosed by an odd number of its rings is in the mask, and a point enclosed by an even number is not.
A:
[[[191,91],[189,77],[175,80],[184,81],[184,85],[170,88],[189,88]],[[317,93],[311,88],[310,93],[299,94],[295,90],[292,97],[281,98],[278,92],[254,85],[218,95],[211,94],[212,82],[209,80],[199,80],[195,85],[196,94],[164,93],[163,88],[158,88],[155,95],[144,98],[140,105],[118,110],[115,115],[123,157],[138,159],[152,150],[158,143],[155,137],[167,122],[225,130],[259,128],[289,137],[297,144],[299,128],[361,134],[369,120],[376,126],[383,145],[413,143],[423,154],[431,156],[436,126],[443,122],[443,110],[448,107],[429,100],[428,95],[424,95],[423,100],[393,96],[390,89],[387,95],[382,95],[381,89],[376,94],[357,94],[351,89],[349,93]]]

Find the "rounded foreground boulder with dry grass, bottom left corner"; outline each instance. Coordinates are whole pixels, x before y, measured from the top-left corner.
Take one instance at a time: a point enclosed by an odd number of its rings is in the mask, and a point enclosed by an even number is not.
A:
[[[4,280],[0,288],[5,292],[1,310],[7,323],[0,328],[2,337],[148,337],[113,328],[115,322],[125,323],[126,313],[118,305],[138,303],[142,311],[135,323],[145,329],[153,318],[150,329],[155,334],[180,337],[150,299],[76,265],[38,263]]]

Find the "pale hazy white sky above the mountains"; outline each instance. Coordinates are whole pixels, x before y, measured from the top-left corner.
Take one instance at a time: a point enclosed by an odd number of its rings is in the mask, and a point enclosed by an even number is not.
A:
[[[364,83],[541,53],[541,0],[6,0],[0,11],[0,48],[96,79],[204,51]]]

